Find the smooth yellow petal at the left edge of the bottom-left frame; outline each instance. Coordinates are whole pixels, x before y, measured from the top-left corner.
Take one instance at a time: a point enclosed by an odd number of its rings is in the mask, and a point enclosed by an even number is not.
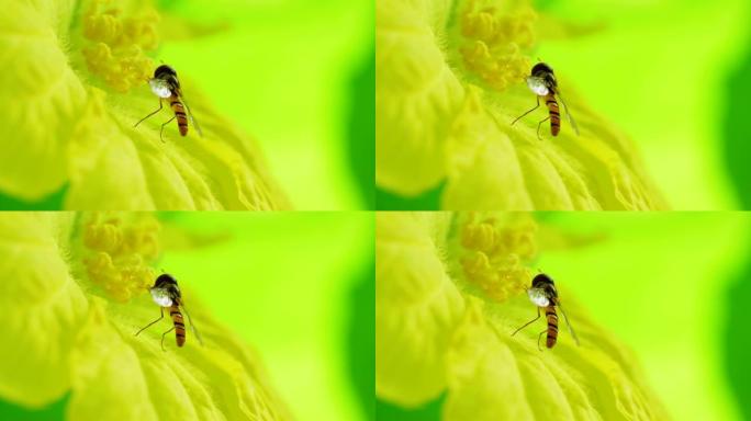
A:
[[[70,214],[0,216],[0,396],[27,407],[70,387],[69,355],[87,315],[65,253]]]

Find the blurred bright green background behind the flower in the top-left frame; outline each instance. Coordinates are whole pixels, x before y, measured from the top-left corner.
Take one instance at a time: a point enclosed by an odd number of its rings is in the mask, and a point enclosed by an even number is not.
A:
[[[374,208],[372,0],[155,1],[155,59],[258,141],[294,208]],[[66,189],[0,208],[59,209]]]

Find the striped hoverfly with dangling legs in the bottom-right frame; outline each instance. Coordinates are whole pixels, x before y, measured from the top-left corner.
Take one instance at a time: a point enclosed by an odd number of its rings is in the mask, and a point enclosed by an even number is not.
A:
[[[542,339],[542,335],[545,333],[548,333],[548,337],[546,339],[546,346],[553,348],[556,345],[556,342],[558,341],[558,314],[556,312],[556,306],[558,306],[561,309],[563,318],[565,319],[565,325],[569,327],[569,332],[571,333],[571,337],[573,338],[576,345],[579,345],[579,338],[576,338],[576,333],[574,333],[573,328],[571,327],[571,322],[569,322],[569,318],[565,316],[563,307],[561,307],[561,301],[558,298],[556,285],[553,284],[553,281],[552,278],[550,278],[550,276],[546,275],[545,273],[540,273],[537,276],[535,276],[535,278],[533,280],[533,287],[527,289],[527,295],[529,296],[529,300],[533,301],[535,306],[537,306],[537,317],[528,321],[523,327],[516,329],[514,333],[512,333],[512,337],[515,335],[519,330],[526,328],[527,326],[531,325],[534,321],[539,319],[540,308],[545,308],[545,316],[548,320],[548,329],[540,332],[540,334],[537,337],[537,348],[540,351],[542,351],[542,348],[540,346],[540,339]]]

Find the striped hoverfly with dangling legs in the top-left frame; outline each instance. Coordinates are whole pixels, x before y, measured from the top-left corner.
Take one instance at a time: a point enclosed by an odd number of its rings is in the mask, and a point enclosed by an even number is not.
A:
[[[154,77],[148,80],[148,86],[152,87],[152,92],[159,98],[159,107],[147,116],[141,118],[133,127],[136,127],[144,120],[161,111],[161,100],[168,100],[169,106],[172,109],[172,112],[175,112],[175,115],[172,118],[168,120],[161,125],[161,129],[159,130],[159,139],[165,141],[162,138],[165,126],[175,118],[178,121],[180,136],[186,136],[188,134],[188,118],[190,118],[190,123],[193,125],[193,127],[195,127],[195,132],[198,132],[199,136],[203,136],[201,133],[201,127],[193,117],[190,106],[188,106],[188,102],[186,102],[186,99],[182,96],[180,81],[177,78],[177,72],[175,69],[167,65],[157,67],[156,70],[154,70]]]

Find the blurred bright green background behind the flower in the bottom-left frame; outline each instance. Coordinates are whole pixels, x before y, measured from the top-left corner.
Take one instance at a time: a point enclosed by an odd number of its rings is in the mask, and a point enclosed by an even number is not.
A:
[[[296,420],[374,419],[372,214],[161,218],[155,268],[258,351]],[[42,411],[0,402],[0,420],[63,419],[66,400]]]

